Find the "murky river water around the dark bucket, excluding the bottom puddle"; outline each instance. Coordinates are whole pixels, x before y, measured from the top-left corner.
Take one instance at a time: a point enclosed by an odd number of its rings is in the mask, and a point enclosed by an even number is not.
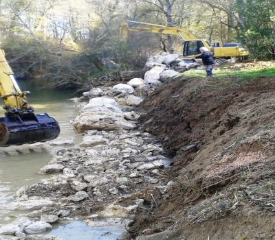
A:
[[[80,136],[76,134],[73,125],[69,124],[69,121],[73,120],[78,112],[73,102],[69,100],[74,97],[72,92],[38,89],[32,84],[29,84],[30,86],[27,88],[23,86],[24,83],[19,83],[19,85],[22,90],[32,92],[28,97],[28,102],[30,106],[34,107],[36,113],[47,112],[50,117],[54,117],[58,121],[61,134],[54,141],[79,142]],[[3,113],[4,110],[0,110],[1,116]],[[12,213],[6,210],[6,206],[14,200],[15,193],[20,187],[47,178],[47,176],[36,174],[36,171],[52,159],[51,154],[39,147],[34,148],[34,152],[29,148],[28,144],[17,147],[0,147],[0,224],[12,221],[10,218]]]

